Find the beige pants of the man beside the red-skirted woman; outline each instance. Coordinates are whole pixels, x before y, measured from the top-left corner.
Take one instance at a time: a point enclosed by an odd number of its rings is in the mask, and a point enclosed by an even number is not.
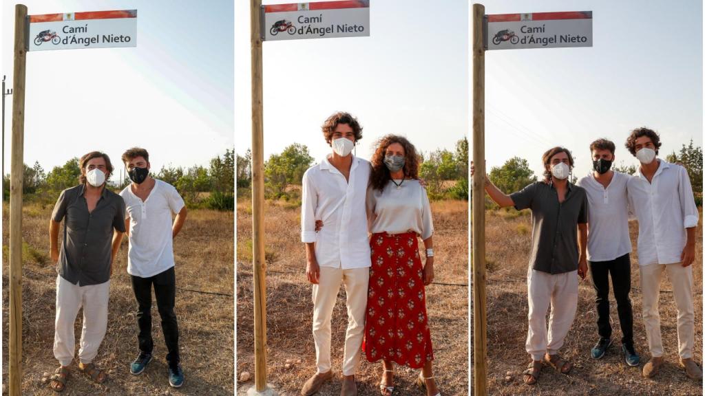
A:
[[[341,283],[345,285],[348,306],[348,330],[345,332],[343,376],[352,376],[360,361],[367,311],[369,267],[341,269],[321,267],[318,285],[313,285],[313,338],[316,342],[316,364],[319,373],[331,369],[331,316]]]

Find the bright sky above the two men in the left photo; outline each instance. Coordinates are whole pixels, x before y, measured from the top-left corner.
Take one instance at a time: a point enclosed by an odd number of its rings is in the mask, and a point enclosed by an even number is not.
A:
[[[2,2],[2,73],[13,80],[15,1]],[[27,53],[24,161],[45,171],[129,147],[152,170],[208,166],[234,144],[233,1],[24,0],[30,15],[137,9],[137,47]],[[12,96],[6,97],[5,172]],[[118,179],[118,169],[113,180]]]

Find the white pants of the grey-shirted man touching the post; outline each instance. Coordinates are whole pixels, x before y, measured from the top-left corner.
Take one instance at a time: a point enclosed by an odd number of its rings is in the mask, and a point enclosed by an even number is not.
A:
[[[550,274],[529,268],[529,335],[527,353],[534,360],[543,360],[544,354],[556,354],[563,347],[565,335],[577,311],[577,270]],[[551,307],[546,340],[546,312]]]

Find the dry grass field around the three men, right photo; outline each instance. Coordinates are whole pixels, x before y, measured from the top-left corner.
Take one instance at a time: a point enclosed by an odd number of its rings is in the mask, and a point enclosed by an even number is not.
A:
[[[632,235],[632,306],[635,347],[642,357],[639,367],[628,367],[621,354],[622,336],[613,293],[610,292],[612,338],[616,344],[603,359],[590,357],[597,342],[595,292],[588,276],[580,283],[577,316],[560,353],[575,364],[569,376],[544,367],[537,385],[524,385],[521,372],[529,363],[524,343],[527,337],[527,257],[530,252],[531,215],[529,211],[488,211],[487,249],[487,383],[490,395],[701,395],[702,383],[689,380],[678,367],[676,308],[668,277],[661,285],[661,334],[666,365],[655,380],[642,377],[649,359],[642,321],[636,241],[637,223],[630,222]],[[700,363],[702,351],[702,213],[697,230],[696,259],[693,266],[695,345],[694,359]],[[507,379],[509,377],[509,379]]]

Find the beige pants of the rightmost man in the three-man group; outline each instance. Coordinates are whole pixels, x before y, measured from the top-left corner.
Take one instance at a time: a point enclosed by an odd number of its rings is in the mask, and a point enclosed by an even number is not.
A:
[[[642,318],[646,328],[646,340],[649,341],[649,351],[653,357],[663,356],[658,291],[664,270],[668,273],[675,306],[678,309],[678,354],[682,359],[692,358],[695,318],[693,267],[682,267],[680,263],[639,266],[639,277],[642,279]]]

